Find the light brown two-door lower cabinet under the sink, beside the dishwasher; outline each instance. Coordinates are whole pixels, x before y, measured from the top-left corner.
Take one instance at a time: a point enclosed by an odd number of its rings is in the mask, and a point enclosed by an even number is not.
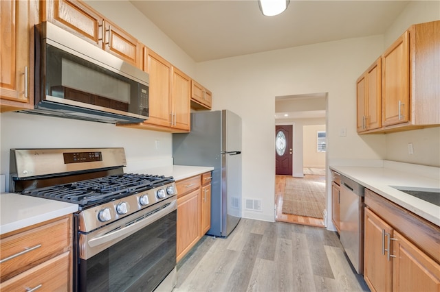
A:
[[[371,291],[440,291],[440,227],[366,189],[364,279]]]

